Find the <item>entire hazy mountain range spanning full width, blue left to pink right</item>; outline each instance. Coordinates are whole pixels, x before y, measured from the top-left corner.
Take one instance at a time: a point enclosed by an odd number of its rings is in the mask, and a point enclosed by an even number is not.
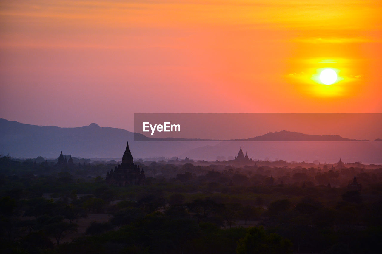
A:
[[[163,139],[143,138],[152,141],[134,141],[133,132],[100,127],[95,123],[83,127],[60,128],[22,124],[0,118],[0,154],[9,153],[10,156],[21,158],[57,158],[60,151],[84,158],[120,158],[128,141],[134,158],[177,156],[215,161],[217,156],[236,156],[239,147],[243,146],[244,153],[248,151],[253,159],[269,157],[288,161],[318,159],[322,162],[336,162],[341,157],[346,162],[382,162],[382,142],[351,142],[353,140],[338,135],[307,135],[284,130],[229,141],[187,141],[173,138],[164,139],[173,141],[158,142]]]

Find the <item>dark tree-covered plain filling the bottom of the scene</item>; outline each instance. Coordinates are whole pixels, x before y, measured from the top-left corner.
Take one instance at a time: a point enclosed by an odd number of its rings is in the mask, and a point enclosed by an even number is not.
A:
[[[382,247],[378,169],[281,168],[270,181],[265,167],[249,174],[248,167],[185,164],[171,166],[175,177],[118,187],[66,167],[36,174],[34,162],[0,161],[3,253],[379,253]],[[278,182],[288,171],[299,179]],[[354,172],[362,190],[348,189],[349,181],[333,187],[304,180],[353,180]],[[250,185],[243,176],[263,182]],[[85,225],[92,214],[108,220]]]

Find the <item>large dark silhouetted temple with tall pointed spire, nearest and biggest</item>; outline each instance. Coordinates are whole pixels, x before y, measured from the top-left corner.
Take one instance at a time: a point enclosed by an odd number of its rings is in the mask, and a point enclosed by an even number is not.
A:
[[[107,171],[106,182],[118,186],[144,185],[145,175],[143,169],[133,163],[133,156],[129,150],[129,142],[122,156],[122,163],[115,166],[114,170]]]

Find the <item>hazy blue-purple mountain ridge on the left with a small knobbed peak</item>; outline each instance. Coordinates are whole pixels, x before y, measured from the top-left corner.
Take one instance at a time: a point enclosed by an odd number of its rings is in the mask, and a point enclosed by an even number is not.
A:
[[[135,135],[141,135],[135,133]],[[60,128],[37,126],[0,118],[0,154],[13,157],[57,158],[64,154],[84,158],[122,157],[126,141],[135,158],[173,156],[200,146],[199,142],[134,142],[134,133],[124,129],[100,127]]]

